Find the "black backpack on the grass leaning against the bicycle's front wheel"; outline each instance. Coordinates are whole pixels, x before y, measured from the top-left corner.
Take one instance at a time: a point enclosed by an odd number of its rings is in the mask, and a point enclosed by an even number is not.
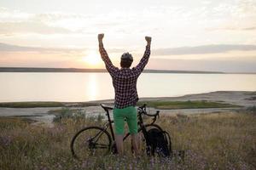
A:
[[[157,153],[162,157],[172,156],[172,142],[169,133],[158,128],[151,128],[147,132],[150,154]]]

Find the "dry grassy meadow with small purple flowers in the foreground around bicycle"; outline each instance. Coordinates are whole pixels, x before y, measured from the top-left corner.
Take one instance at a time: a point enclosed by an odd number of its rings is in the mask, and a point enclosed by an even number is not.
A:
[[[146,121],[146,120],[145,120]],[[252,113],[161,116],[156,122],[172,136],[173,150],[185,150],[183,162],[143,156],[91,156],[75,161],[69,149],[80,128],[101,125],[87,118],[63,117],[55,127],[20,118],[0,119],[0,169],[255,169],[256,116]]]

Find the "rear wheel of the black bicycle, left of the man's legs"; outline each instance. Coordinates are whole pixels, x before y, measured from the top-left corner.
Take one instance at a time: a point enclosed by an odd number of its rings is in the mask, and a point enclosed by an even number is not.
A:
[[[109,153],[111,137],[102,127],[85,127],[73,136],[70,147],[73,157],[80,161],[88,156],[104,156]]]

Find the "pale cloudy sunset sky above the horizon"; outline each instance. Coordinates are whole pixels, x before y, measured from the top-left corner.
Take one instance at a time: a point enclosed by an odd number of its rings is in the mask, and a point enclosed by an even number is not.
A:
[[[0,66],[104,68],[97,34],[113,64],[146,69],[256,72],[255,0],[1,0]]]

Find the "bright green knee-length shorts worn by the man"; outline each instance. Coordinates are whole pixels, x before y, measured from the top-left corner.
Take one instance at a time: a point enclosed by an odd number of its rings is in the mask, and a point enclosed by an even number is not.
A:
[[[116,134],[125,133],[125,119],[131,134],[137,133],[137,111],[134,106],[113,109],[113,123]]]

